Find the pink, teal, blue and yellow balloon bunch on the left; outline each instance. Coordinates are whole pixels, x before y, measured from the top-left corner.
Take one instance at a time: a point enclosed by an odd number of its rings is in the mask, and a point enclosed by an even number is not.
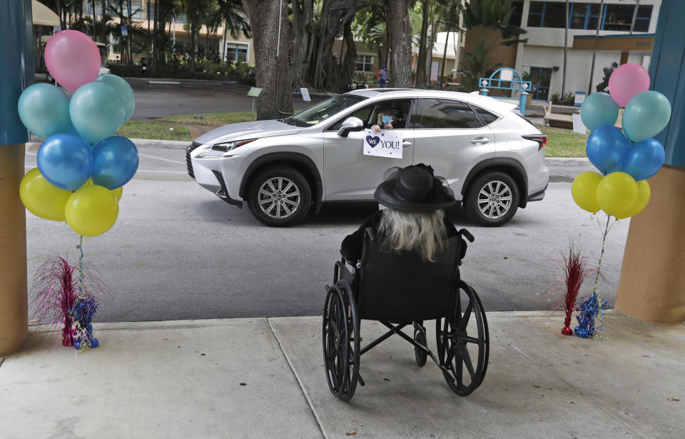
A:
[[[122,186],[138,169],[138,150],[112,136],[133,113],[133,89],[115,75],[98,76],[100,51],[79,31],[54,34],[45,48],[56,86],[34,84],[19,96],[24,126],[44,138],[38,168],[21,181],[21,201],[31,213],[65,221],[82,236],[108,231],[118,216]]]

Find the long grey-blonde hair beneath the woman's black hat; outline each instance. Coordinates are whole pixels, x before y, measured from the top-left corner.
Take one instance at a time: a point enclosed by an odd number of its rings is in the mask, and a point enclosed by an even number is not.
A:
[[[405,212],[383,210],[378,224],[382,243],[393,251],[415,251],[424,261],[435,262],[447,239],[445,211]]]

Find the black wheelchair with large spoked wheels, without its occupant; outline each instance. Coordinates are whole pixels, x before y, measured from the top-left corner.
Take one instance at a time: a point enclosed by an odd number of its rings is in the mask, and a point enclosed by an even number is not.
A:
[[[360,375],[360,357],[393,334],[414,345],[416,363],[430,357],[457,395],[466,396],[482,383],[487,370],[489,335],[483,306],[476,292],[460,278],[459,266],[467,243],[462,229],[447,240],[436,262],[414,253],[391,253],[377,243],[375,231],[364,234],[362,259],[335,263],[333,285],[323,311],[323,360],[331,393],[352,398]],[[350,271],[347,266],[351,267]],[[375,320],[390,330],[360,348],[362,319]],[[437,355],[427,347],[423,322],[435,319]],[[412,324],[414,337],[402,331]]]

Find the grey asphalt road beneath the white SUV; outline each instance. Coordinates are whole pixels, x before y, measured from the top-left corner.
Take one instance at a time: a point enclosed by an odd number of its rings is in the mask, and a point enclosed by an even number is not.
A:
[[[141,164],[124,187],[117,223],[83,246],[84,261],[111,289],[97,321],[320,315],[340,241],[375,208],[325,207],[293,228],[268,228],[189,178],[183,146],[138,146]],[[35,166],[36,148],[27,152],[27,169]],[[486,310],[548,309],[554,299],[545,292],[559,286],[558,262],[569,239],[592,265],[599,257],[603,224],[575,206],[564,181],[550,183],[544,201],[530,203],[501,228],[474,226],[460,208],[449,214],[476,238],[462,277]],[[56,254],[78,261],[78,236],[66,223],[26,215],[29,278]],[[607,237],[600,294],[610,304],[628,225],[619,221]],[[594,277],[583,293],[593,283]]]

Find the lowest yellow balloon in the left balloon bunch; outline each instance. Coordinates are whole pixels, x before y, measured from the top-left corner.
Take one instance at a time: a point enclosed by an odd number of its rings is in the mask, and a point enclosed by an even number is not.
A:
[[[73,231],[83,236],[98,236],[108,231],[119,214],[114,194],[103,186],[85,186],[71,194],[64,215]]]

